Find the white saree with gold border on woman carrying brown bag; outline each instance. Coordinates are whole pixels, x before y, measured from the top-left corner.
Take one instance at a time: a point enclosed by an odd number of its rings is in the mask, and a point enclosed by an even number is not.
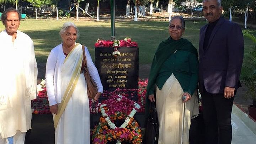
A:
[[[87,84],[84,74],[80,74],[82,66],[82,46],[76,44],[65,58],[61,68],[61,96],[60,107],[65,105],[65,99],[69,98],[65,110],[59,115],[59,121],[54,115],[55,144],[89,144],[89,99],[87,97]]]

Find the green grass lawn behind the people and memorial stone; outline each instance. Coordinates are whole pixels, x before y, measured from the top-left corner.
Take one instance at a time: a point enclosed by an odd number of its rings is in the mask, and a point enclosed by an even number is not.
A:
[[[19,30],[27,33],[34,41],[37,63],[46,63],[49,52],[52,48],[62,42],[59,30],[67,20],[32,20],[21,21]],[[94,43],[98,38],[110,39],[111,21],[75,21],[80,30],[80,38],[77,42],[84,44],[89,49],[94,59]],[[183,38],[189,39],[198,48],[199,29],[207,21],[186,21],[186,31]],[[139,44],[139,63],[151,63],[154,52],[161,41],[169,37],[168,22],[166,21],[122,21],[116,23],[116,39],[132,38]],[[0,25],[4,30],[4,25]],[[256,35],[256,30],[250,30]],[[245,38],[245,54],[253,47],[252,41]]]

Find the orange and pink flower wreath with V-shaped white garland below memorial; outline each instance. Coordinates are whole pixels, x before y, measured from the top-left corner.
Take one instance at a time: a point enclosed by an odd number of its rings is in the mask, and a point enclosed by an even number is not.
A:
[[[128,109],[123,110],[122,108],[119,111],[115,111],[114,107],[116,107],[118,103],[126,103],[130,113],[127,112]],[[129,105],[130,103],[132,103],[133,107]],[[111,111],[110,108],[113,110]],[[102,104],[100,109],[102,113],[100,122],[95,126],[92,132],[94,144],[106,144],[114,140],[117,141],[117,144],[121,144],[122,142],[140,144],[142,142],[139,124],[133,118],[137,110],[140,109],[138,103],[128,100],[125,96],[118,95],[116,98],[112,99],[112,105],[107,107],[107,104]],[[114,124],[116,119],[124,120],[124,123],[120,127],[116,127]]]

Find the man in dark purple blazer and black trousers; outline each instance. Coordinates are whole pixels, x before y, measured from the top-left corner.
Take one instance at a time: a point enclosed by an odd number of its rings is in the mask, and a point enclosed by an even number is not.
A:
[[[200,29],[199,90],[202,95],[206,144],[230,144],[231,111],[244,55],[241,28],[225,20],[221,0],[203,0],[208,24]]]

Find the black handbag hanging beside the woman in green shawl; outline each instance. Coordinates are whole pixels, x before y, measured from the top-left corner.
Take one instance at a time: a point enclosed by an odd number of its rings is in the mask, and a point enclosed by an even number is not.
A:
[[[155,102],[150,102],[149,116],[146,119],[145,135],[143,144],[157,144],[159,125]]]

